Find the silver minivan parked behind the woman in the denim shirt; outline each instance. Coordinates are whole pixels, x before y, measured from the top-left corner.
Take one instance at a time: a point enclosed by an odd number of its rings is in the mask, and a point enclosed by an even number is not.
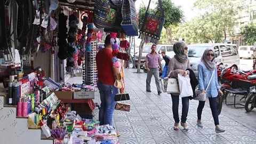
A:
[[[236,64],[237,67],[233,67],[233,69],[238,70],[239,55],[235,44],[192,44],[188,45],[188,58],[191,69],[196,76],[198,76],[197,66],[199,62],[201,62],[204,50],[207,49],[207,47],[212,47],[215,50],[217,63],[222,62],[223,65],[227,66]]]

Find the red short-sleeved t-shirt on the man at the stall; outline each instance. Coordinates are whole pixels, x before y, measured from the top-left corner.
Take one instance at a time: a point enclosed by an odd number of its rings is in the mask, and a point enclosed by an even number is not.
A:
[[[103,84],[114,85],[112,50],[102,49],[96,55],[98,78]]]

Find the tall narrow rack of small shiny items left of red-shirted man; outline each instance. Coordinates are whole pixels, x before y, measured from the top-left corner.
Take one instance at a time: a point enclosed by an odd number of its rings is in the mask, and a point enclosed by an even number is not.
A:
[[[96,65],[96,54],[98,42],[92,41],[92,50],[85,54],[85,67],[83,67],[83,84],[94,85],[97,87],[98,82],[98,70]]]

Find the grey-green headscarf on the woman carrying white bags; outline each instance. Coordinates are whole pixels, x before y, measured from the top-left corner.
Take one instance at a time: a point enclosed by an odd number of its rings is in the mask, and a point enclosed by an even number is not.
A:
[[[177,42],[173,45],[173,51],[175,53],[174,58],[181,63],[187,61],[188,57],[187,54],[184,54],[184,47],[182,47],[182,43],[184,42]]]

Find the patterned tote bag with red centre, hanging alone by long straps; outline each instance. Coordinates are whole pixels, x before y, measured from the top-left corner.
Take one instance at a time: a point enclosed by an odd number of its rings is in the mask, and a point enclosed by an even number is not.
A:
[[[164,11],[161,0],[158,0],[162,17],[158,17],[155,14],[148,13],[150,1],[151,0],[149,0],[149,4],[145,14],[145,20],[142,24],[139,38],[143,39],[146,43],[158,44],[165,21]]]

